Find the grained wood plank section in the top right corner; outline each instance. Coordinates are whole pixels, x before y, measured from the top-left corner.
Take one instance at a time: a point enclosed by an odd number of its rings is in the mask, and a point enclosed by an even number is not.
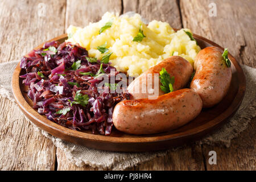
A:
[[[211,2],[216,4],[217,16],[209,16]],[[184,27],[227,47],[240,63],[256,68],[254,0],[180,0],[180,8]]]

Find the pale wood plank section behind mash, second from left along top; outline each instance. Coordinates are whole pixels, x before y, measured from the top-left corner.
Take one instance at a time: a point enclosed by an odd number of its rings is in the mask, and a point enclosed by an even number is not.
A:
[[[65,29],[73,26],[85,27],[98,22],[106,11],[122,14],[121,0],[67,0]]]

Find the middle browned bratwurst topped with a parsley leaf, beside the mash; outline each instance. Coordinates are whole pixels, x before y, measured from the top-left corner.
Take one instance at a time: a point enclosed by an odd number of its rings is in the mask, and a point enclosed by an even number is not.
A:
[[[146,72],[142,73],[139,77],[135,78],[133,82],[128,86],[127,90],[130,94],[133,95],[134,99],[138,98],[148,98],[148,96],[155,95],[156,89],[154,86],[154,74],[159,74],[162,68],[166,69],[166,71],[170,74],[170,76],[174,76],[175,82],[173,88],[175,90],[179,90],[184,88],[191,78],[191,74],[193,72],[193,68],[191,64],[183,59],[180,56],[172,56],[168,59],[163,60],[159,64],[154,67],[148,69]],[[152,81],[148,82],[147,76],[148,74],[152,75]],[[158,80],[158,85],[160,81]],[[154,92],[148,93],[147,87],[152,88]],[[144,91],[142,90],[144,89]],[[158,94],[157,96],[161,96],[165,94],[162,90],[160,90],[160,86],[158,86]],[[157,97],[156,96],[156,97]]]

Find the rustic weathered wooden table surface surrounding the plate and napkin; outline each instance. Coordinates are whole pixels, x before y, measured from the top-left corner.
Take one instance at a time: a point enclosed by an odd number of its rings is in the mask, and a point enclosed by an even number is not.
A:
[[[210,3],[214,4],[210,4]],[[229,51],[241,64],[256,67],[255,0],[56,0],[0,1],[0,62],[18,60],[33,47],[65,33],[70,24],[86,26],[106,11],[136,11],[149,20],[188,27]],[[216,5],[216,15],[210,16]],[[46,11],[44,11],[46,7]],[[210,11],[210,15],[209,15]],[[0,169],[95,170],[76,167],[51,140],[26,121],[16,105],[0,97]],[[255,170],[256,118],[229,148],[193,144],[130,170]],[[217,152],[217,165],[208,163]]]

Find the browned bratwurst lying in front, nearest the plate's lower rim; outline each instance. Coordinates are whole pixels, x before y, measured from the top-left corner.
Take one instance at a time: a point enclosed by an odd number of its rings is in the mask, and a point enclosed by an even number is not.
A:
[[[176,129],[199,115],[202,101],[192,89],[119,102],[113,112],[116,129],[129,134],[155,134]]]

